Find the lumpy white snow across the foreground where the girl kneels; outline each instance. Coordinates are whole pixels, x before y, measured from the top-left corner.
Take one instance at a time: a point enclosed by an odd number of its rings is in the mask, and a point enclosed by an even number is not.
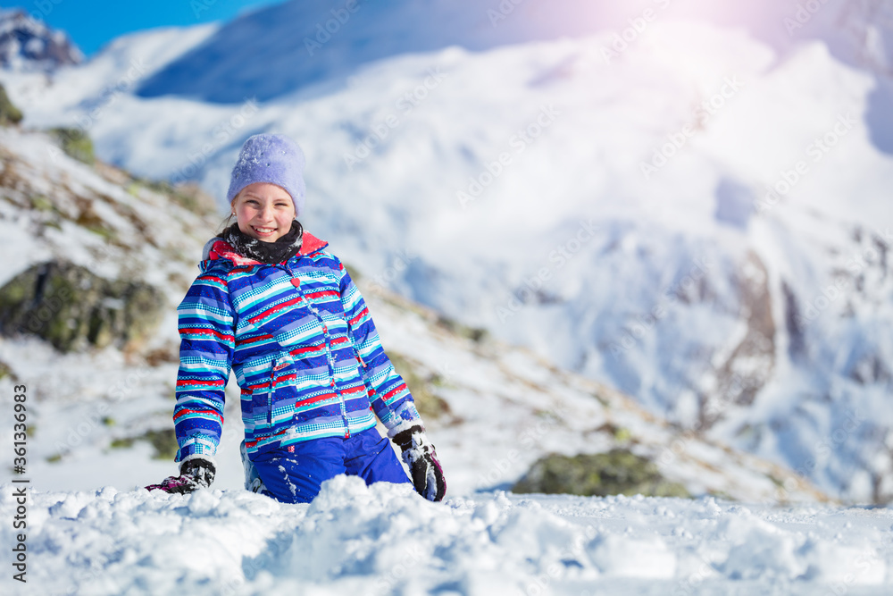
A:
[[[10,519],[13,486],[0,486]],[[430,503],[338,477],[310,505],[247,491],[34,491],[5,594],[889,594],[889,508],[705,498]],[[0,530],[12,548],[14,531]],[[8,567],[7,567],[8,569]],[[9,574],[7,570],[4,572]]]

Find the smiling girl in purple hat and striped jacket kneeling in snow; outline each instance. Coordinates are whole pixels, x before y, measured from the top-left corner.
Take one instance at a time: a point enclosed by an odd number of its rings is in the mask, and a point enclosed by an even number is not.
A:
[[[255,135],[239,152],[227,192],[236,223],[205,245],[202,273],[178,307],[180,475],[146,488],[211,485],[231,368],[242,390],[248,490],[309,502],[323,481],[355,474],[367,484],[412,482],[441,500],[437,453],[363,297],[328,244],[296,219],[304,165],[300,147],[281,135]],[[376,416],[412,481],[375,430]]]

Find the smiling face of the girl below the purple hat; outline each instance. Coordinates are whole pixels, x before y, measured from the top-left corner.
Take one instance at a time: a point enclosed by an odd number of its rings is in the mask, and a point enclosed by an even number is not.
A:
[[[291,231],[295,204],[282,187],[255,182],[232,199],[232,212],[236,214],[238,229],[246,235],[275,242]]]

